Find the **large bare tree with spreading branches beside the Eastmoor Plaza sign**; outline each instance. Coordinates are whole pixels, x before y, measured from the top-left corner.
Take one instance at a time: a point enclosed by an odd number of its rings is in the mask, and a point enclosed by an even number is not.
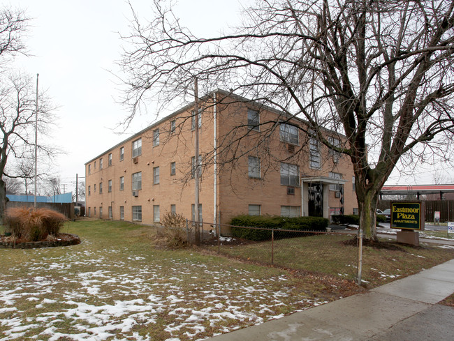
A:
[[[309,137],[351,159],[366,238],[376,238],[379,192],[395,167],[449,158],[454,1],[264,0],[217,38],[193,36],[164,6],[154,1],[144,25],[133,11],[123,37],[126,123],[151,100],[191,100],[194,77],[305,119]]]

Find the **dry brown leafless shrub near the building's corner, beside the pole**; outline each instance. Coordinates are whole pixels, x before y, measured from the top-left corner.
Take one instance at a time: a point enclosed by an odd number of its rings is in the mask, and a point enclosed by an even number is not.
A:
[[[161,236],[168,248],[184,248],[188,245],[186,218],[182,214],[166,212],[161,221]]]

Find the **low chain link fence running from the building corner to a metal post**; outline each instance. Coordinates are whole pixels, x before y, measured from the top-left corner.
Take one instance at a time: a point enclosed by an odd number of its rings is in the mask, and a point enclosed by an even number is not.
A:
[[[196,228],[197,224],[199,229]],[[336,275],[360,282],[362,247],[358,244],[361,239],[356,230],[328,228],[320,232],[265,229],[188,220],[186,233],[189,243],[200,244],[203,248],[228,257],[295,271]]]

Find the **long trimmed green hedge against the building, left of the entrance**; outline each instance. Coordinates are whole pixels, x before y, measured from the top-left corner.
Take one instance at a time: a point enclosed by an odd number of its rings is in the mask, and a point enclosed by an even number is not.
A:
[[[271,231],[263,229],[244,229],[235,226],[261,227],[264,229],[294,229],[298,231],[325,231],[328,227],[328,219],[319,217],[280,217],[263,215],[237,215],[230,222],[233,225],[232,236],[244,238],[250,241],[267,241],[271,239]],[[288,232],[274,231],[274,238],[294,237]]]

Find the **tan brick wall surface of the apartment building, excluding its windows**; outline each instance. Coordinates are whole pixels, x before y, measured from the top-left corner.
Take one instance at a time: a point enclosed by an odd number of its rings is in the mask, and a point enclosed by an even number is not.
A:
[[[279,215],[281,206],[301,206],[300,188],[295,195],[287,195],[287,186],[281,185],[280,160],[299,166],[300,176],[328,176],[329,172],[342,173],[347,183],[344,185],[345,213],[352,213],[357,206],[352,189],[353,169],[344,157],[332,162],[325,148],[321,148],[322,168],[309,167],[309,145],[300,132],[300,143],[294,153],[289,153],[287,144],[279,140],[279,125],[272,123],[261,127],[261,132],[247,128],[247,108],[258,109],[261,122],[274,121],[276,112],[251,103],[217,105],[217,206],[218,218],[222,223],[240,213],[248,213],[249,204],[261,205],[262,214]],[[119,220],[119,207],[124,206],[124,220],[133,220],[132,206],[142,206],[142,222],[153,222],[153,206],[159,205],[161,218],[170,205],[176,205],[177,213],[191,219],[191,204],[194,202],[194,181],[191,179],[191,157],[194,156],[194,132],[191,129],[191,111],[181,110],[155,126],[144,130],[122,144],[118,144],[101,156],[86,164],[86,212],[99,217],[99,207],[103,208],[102,218],[108,218],[108,206],[112,206],[113,219]],[[200,128],[200,154],[203,156],[203,176],[200,183],[200,204],[203,205],[204,222],[214,220],[214,107],[205,103]],[[175,120],[176,131],[170,133],[170,121]],[[302,124],[302,121],[291,121]],[[242,126],[241,126],[242,125]],[[241,126],[241,127],[238,127]],[[159,146],[153,146],[153,131],[159,128]],[[244,134],[246,133],[246,137]],[[264,136],[268,138],[263,139]],[[142,139],[142,154],[138,162],[132,158],[132,142]],[[119,160],[119,150],[124,147],[124,160]],[[112,165],[108,165],[108,155],[112,153]],[[237,156],[235,160],[230,157]],[[248,156],[261,159],[261,179],[248,176]],[[99,169],[103,158],[103,169]],[[94,167],[96,162],[96,168]],[[176,174],[170,175],[170,162],[176,164]],[[88,167],[91,167],[91,174]],[[159,184],[153,184],[153,169],[159,167]],[[142,189],[138,197],[132,195],[132,174],[142,172]],[[124,190],[119,190],[119,178],[124,176]],[[108,181],[112,180],[112,192],[108,192]],[[103,193],[99,194],[99,183],[103,183]],[[94,185],[96,184],[96,192]],[[90,187],[90,195],[88,188]],[[329,205],[339,206],[335,192],[330,191]]]

